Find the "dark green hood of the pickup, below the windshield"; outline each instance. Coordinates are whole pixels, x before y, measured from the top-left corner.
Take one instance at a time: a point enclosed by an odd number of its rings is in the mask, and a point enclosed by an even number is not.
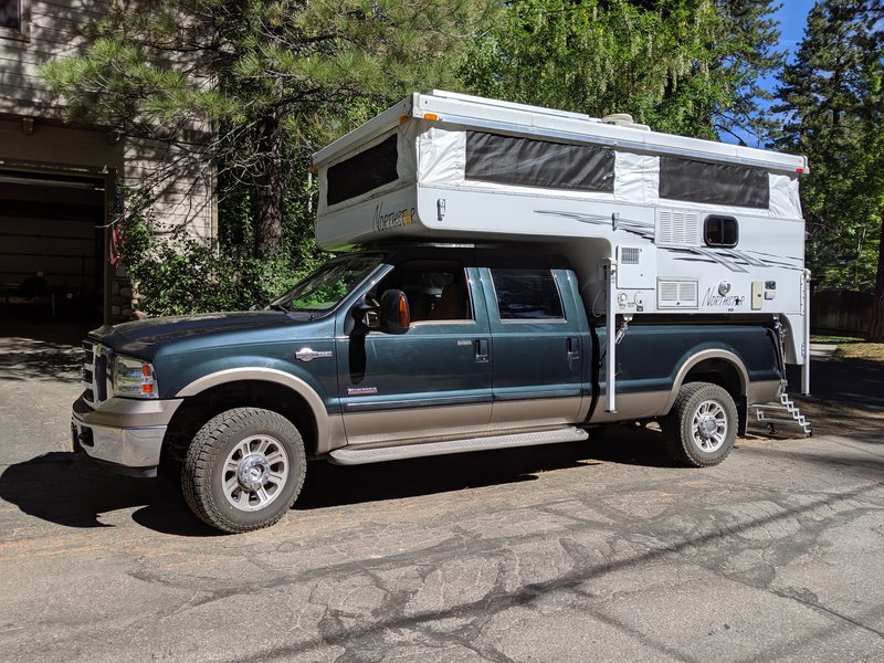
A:
[[[282,311],[204,313],[104,326],[90,332],[90,337],[117,352],[139,356],[158,345],[183,338],[291,326],[308,323],[309,319],[308,314],[286,314]]]

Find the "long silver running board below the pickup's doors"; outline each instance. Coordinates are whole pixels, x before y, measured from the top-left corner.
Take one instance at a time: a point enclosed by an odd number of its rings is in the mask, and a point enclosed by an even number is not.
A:
[[[329,455],[338,465],[364,465],[385,461],[402,461],[424,456],[465,453],[467,451],[488,451],[492,449],[512,449],[514,446],[534,446],[539,444],[558,444],[559,442],[577,442],[589,438],[587,432],[577,428],[557,429],[539,433],[518,433],[514,435],[494,435],[491,438],[471,438],[469,440],[449,440],[446,442],[418,442],[399,446],[375,446],[359,449],[345,446],[336,449]]]

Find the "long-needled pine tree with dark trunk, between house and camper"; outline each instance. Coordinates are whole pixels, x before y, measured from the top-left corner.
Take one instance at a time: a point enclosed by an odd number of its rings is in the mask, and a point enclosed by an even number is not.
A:
[[[285,192],[308,155],[414,88],[453,85],[457,44],[491,0],[149,0],[87,25],[83,55],[43,69],[69,117],[193,145],[249,187],[256,255],[283,245]],[[204,139],[204,137],[203,137]],[[223,192],[222,192],[223,193]],[[240,201],[243,197],[240,196]]]

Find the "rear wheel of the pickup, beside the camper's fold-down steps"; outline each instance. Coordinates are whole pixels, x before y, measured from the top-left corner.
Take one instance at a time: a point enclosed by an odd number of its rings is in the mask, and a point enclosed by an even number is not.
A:
[[[690,382],[678,390],[663,420],[663,442],[674,461],[693,467],[717,465],[737,436],[737,407],[718,385]]]

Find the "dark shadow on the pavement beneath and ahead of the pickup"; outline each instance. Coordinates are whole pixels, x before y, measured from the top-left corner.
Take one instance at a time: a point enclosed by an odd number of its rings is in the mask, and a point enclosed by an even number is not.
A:
[[[588,442],[415,459],[361,466],[311,463],[295,509],[401,499],[536,481],[544,472],[603,462],[671,466],[660,433],[610,428]],[[588,477],[589,480],[589,477]],[[23,513],[66,527],[108,527],[102,515],[136,508],[133,520],[175,536],[220,533],[190,513],[171,481],[120,476],[83,456],[51,452],[10,465],[0,498]]]

